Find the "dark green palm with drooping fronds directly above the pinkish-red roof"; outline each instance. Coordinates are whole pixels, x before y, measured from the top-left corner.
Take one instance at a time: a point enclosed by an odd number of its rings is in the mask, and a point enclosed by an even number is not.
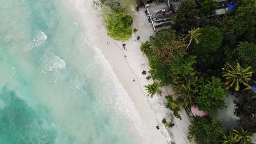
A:
[[[184,74],[181,75],[181,77],[176,77],[174,82],[174,93],[177,93],[178,95],[176,97],[181,97],[183,99],[182,106],[188,106],[188,104],[191,104],[191,101],[193,98],[195,98],[195,94],[198,91],[198,87],[196,86],[198,77],[195,76],[195,73],[191,73],[188,76],[185,76]]]

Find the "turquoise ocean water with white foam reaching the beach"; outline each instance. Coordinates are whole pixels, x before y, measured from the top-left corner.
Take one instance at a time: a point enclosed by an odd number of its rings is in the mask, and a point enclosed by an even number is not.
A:
[[[131,99],[59,1],[0,10],[0,144],[137,143]]]

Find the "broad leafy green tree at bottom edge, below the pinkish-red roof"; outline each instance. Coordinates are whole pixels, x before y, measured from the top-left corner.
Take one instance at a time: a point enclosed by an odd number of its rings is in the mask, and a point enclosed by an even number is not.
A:
[[[196,118],[196,121],[191,122],[188,130],[188,139],[197,144],[218,144],[218,137],[222,135],[223,124],[216,119],[206,117]]]

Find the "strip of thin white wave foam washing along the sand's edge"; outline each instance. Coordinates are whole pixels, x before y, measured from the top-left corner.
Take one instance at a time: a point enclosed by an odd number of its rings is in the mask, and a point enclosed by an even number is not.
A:
[[[145,140],[150,140],[150,137],[154,137],[153,131],[151,131],[146,123],[144,123],[139,116],[135,104],[131,100],[129,94],[125,91],[125,88],[123,85],[121,85],[120,81],[117,78],[117,75],[115,75],[112,67],[110,66],[109,62],[107,59],[104,57],[102,51],[95,46],[96,50],[96,59],[97,63],[103,65],[104,67],[104,76],[107,77],[107,79],[111,79],[114,81],[114,89],[115,89],[115,94],[113,101],[109,101],[109,97],[103,97],[104,101],[108,101],[108,103],[112,103],[113,106],[115,107],[116,110],[119,112],[124,113],[125,116],[130,118],[135,125],[135,128],[138,130],[139,134],[145,139]],[[116,97],[118,96],[118,97]]]

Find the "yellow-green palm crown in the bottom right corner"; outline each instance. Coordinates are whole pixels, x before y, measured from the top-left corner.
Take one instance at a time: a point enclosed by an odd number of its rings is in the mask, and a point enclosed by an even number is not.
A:
[[[232,130],[234,135],[236,135],[239,141],[241,141],[243,144],[251,143],[253,134],[249,133],[249,131],[243,130],[242,127],[240,128],[241,128],[241,132],[236,129]]]

